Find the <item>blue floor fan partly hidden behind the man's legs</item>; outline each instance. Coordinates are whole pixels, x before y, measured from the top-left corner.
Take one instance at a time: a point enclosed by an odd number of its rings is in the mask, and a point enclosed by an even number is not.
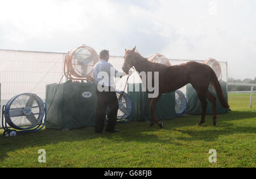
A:
[[[117,98],[119,99],[122,91],[115,91]],[[117,112],[117,122],[129,122],[133,117],[133,100],[127,93],[123,93],[121,99],[118,101],[119,109]],[[108,122],[108,110],[107,109],[107,122]]]

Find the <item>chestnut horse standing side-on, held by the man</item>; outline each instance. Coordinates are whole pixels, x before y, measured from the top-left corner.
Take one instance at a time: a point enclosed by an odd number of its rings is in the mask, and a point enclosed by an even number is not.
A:
[[[159,123],[155,115],[155,105],[160,96],[164,93],[170,93],[171,91],[180,89],[189,83],[195,88],[202,106],[201,120],[197,126],[201,126],[201,124],[205,122],[205,113],[207,109],[206,98],[212,103],[213,126],[216,126],[216,98],[209,92],[208,86],[211,84],[214,87],[222,107],[228,109],[229,105],[224,98],[220,82],[210,66],[195,61],[174,66],[151,63],[136,52],[135,48],[133,50],[125,51],[125,62],[122,66],[123,72],[128,74],[130,68],[134,66],[138,73],[159,73],[159,79],[154,79],[154,74],[152,74],[152,84],[154,84],[155,80],[159,80],[159,95],[156,98],[150,98],[151,123],[148,127],[152,127],[154,123],[157,123],[160,128],[163,128],[163,123]],[[148,87],[146,88],[146,91],[147,93],[150,93]]]

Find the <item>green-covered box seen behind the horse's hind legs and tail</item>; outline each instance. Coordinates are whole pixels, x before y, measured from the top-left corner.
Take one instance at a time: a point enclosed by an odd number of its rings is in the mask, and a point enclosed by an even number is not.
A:
[[[224,97],[226,101],[228,101],[228,91],[226,89],[226,82],[225,81],[220,81],[220,85],[222,88],[222,91],[224,93]],[[191,84],[188,84],[187,86],[187,114],[201,114],[202,113],[202,107],[200,100],[197,96],[196,90],[193,88]],[[211,94],[216,97],[216,113],[228,113],[228,109],[222,108],[220,101],[218,100],[218,97],[215,93],[215,90],[209,86],[209,91]],[[207,99],[207,114],[212,114],[212,104],[210,101]]]

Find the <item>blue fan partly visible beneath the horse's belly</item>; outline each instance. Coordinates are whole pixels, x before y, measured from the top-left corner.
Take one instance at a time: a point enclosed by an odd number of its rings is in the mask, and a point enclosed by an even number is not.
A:
[[[177,116],[183,116],[187,110],[187,98],[180,90],[175,91],[175,111]]]

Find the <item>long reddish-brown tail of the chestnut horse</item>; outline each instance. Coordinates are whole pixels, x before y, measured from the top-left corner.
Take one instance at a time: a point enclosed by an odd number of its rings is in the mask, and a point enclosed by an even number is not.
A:
[[[213,70],[212,70],[212,76],[210,78],[210,82],[216,91],[216,94],[218,99],[220,100],[221,106],[225,109],[228,109],[229,108],[228,102],[226,102],[223,91],[221,89],[220,82],[218,81],[218,78]]]

